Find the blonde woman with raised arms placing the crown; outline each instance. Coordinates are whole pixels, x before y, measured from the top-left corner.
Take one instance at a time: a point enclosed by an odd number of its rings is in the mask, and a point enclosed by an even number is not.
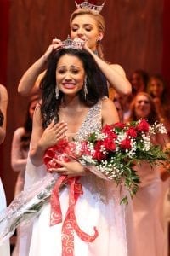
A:
[[[109,64],[104,60],[101,44],[105,36],[104,17],[92,9],[77,9],[71,14],[70,27],[71,38],[75,40],[77,38],[82,39],[82,41],[86,42],[84,48],[93,56],[99,67],[103,80],[103,85],[99,87],[99,90],[103,90],[105,96],[108,96],[108,87],[111,86],[123,96],[130,94],[131,84],[127,80],[123,68],[117,64]],[[61,47],[62,42],[55,38],[45,54],[26,71],[18,87],[21,95],[26,96],[30,94],[38,75],[46,69],[50,53],[54,49],[60,49]]]

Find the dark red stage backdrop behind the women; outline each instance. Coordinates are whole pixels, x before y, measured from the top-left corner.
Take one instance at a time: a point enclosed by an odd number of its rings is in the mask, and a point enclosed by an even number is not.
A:
[[[164,5],[163,9],[162,0],[105,1],[105,59],[122,65],[127,76],[143,68],[169,79],[169,1],[164,0]],[[73,0],[0,0],[0,83],[6,85],[9,98],[7,137],[1,146],[0,164],[8,202],[13,199],[17,177],[10,166],[11,142],[14,130],[23,125],[27,106],[27,99],[17,93],[20,77],[48,48],[52,38],[67,37],[74,9]]]

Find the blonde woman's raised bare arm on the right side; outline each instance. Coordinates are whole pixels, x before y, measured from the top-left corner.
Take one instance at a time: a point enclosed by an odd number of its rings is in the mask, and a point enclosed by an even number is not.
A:
[[[84,48],[87,49],[91,55],[93,55],[99,69],[105,75],[105,78],[108,80],[111,87],[116,90],[116,92],[122,96],[129,95],[132,92],[132,86],[126,78],[126,74],[120,65],[110,65],[100,59],[98,55],[95,55],[87,45],[85,45]]]

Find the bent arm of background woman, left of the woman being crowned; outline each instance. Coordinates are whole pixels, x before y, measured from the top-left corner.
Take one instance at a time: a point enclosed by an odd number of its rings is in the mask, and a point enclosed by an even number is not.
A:
[[[26,168],[27,158],[23,158],[21,149],[21,137],[24,135],[24,127],[14,131],[12,149],[11,149],[11,166],[14,171],[21,171]]]

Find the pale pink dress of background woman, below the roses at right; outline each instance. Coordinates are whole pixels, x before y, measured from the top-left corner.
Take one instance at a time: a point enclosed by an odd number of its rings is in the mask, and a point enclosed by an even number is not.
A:
[[[162,182],[159,167],[150,167],[143,163],[136,169],[141,180],[139,191],[133,197],[136,256],[164,256],[165,235],[160,214]]]

